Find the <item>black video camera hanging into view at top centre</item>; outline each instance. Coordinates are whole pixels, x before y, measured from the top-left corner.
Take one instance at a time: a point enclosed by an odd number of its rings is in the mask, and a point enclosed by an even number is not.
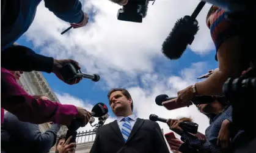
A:
[[[117,20],[142,23],[142,18],[147,15],[148,1],[154,0],[129,0],[117,12]]]

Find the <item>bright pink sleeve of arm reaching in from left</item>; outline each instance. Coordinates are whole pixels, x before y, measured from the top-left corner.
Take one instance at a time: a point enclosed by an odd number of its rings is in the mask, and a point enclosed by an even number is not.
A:
[[[53,121],[68,126],[78,114],[74,105],[33,98],[4,68],[1,68],[1,107],[16,115],[20,121],[34,124]]]

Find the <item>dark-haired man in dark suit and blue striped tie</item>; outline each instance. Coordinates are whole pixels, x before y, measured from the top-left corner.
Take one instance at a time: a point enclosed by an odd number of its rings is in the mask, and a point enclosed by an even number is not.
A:
[[[98,129],[90,153],[169,153],[158,123],[133,114],[127,90],[114,88],[108,99],[117,120]]]

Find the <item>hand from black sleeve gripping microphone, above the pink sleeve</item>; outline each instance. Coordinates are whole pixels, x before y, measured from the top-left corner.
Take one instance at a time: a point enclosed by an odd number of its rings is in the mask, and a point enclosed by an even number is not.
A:
[[[64,79],[62,78],[61,74],[60,74],[60,69],[62,69],[62,67],[65,65],[65,64],[68,64],[68,63],[71,63],[72,65],[75,66],[75,68],[77,69],[81,69],[79,67],[79,63],[76,62],[75,60],[71,60],[71,59],[64,59],[64,60],[56,60],[54,59],[53,61],[53,73],[56,74],[56,76],[62,80],[63,82]],[[81,78],[82,79],[82,78]],[[73,84],[78,84],[80,82],[81,79],[74,79],[73,82],[71,83],[67,83],[65,82],[66,84],[70,84],[70,85],[73,85]]]

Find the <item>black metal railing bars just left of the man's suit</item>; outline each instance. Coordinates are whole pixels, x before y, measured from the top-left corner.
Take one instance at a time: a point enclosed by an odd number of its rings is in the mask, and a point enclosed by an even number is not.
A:
[[[97,130],[86,130],[86,132],[78,132],[76,135],[76,144],[88,143],[95,140]]]

